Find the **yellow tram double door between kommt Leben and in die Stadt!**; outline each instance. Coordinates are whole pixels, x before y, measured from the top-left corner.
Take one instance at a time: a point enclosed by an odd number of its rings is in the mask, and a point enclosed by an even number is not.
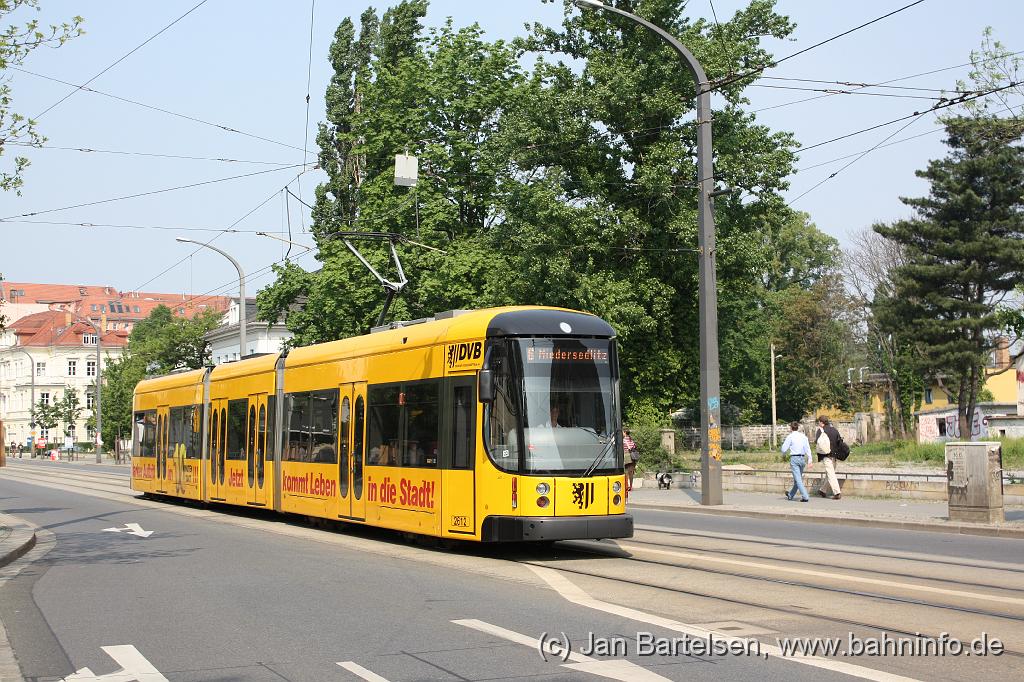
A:
[[[338,497],[340,518],[366,518],[362,489],[367,428],[366,383],[342,384],[338,401]]]

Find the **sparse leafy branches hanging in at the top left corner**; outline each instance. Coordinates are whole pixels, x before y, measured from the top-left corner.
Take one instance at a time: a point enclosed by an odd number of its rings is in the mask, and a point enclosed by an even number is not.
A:
[[[0,24],[7,27],[0,31],[0,75],[3,76],[0,81],[0,139],[3,140],[0,143],[0,156],[3,156],[9,145],[39,145],[46,141],[36,129],[34,120],[11,109],[13,94],[8,69],[24,65],[26,58],[38,47],[59,47],[82,35],[82,22],[85,20],[81,16],[75,16],[71,22],[45,29],[36,19],[10,24],[11,14],[19,9],[38,11],[39,0],[0,0]],[[0,171],[0,188],[14,189],[20,194],[19,188],[24,182],[22,173],[28,167],[28,159],[15,157],[13,169]]]

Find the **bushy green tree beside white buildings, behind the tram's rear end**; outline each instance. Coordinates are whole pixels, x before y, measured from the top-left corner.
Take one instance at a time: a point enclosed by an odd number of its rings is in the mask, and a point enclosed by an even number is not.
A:
[[[193,318],[177,317],[158,305],[132,329],[121,357],[103,366],[103,443],[131,433],[135,385],[146,376],[177,369],[199,369],[209,364],[210,350],[203,335],[214,329],[221,313],[201,312]]]

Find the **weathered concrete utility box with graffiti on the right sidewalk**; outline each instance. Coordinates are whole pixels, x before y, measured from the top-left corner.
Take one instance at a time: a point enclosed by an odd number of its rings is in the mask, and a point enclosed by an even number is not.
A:
[[[949,520],[1001,523],[1002,447],[997,442],[947,442]]]

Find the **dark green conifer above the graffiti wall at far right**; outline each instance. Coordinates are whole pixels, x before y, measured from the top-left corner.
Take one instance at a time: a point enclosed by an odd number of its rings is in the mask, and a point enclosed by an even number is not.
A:
[[[902,200],[916,217],[874,226],[906,250],[879,314],[912,330],[920,370],[948,378],[961,432],[970,433],[1001,331],[998,306],[1024,273],[1024,150],[1007,141],[1020,130],[1013,121],[958,118],[945,128],[949,155],[916,173],[929,196]]]

